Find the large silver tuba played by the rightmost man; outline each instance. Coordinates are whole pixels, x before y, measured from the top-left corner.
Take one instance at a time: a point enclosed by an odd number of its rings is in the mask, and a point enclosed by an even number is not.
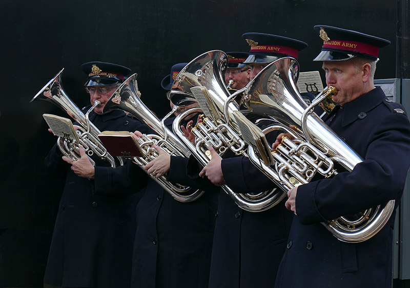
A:
[[[296,62],[291,57],[276,60],[265,67],[253,79],[242,97],[246,107],[242,114],[252,122],[268,118],[274,125],[263,130],[268,133],[282,130],[292,135],[284,138],[272,153],[271,162],[263,163],[260,151],[249,145],[251,161],[277,186],[287,192],[291,188],[308,183],[315,175],[331,177],[337,174],[335,163],[352,171],[363,159],[315,113],[314,105],[325,97],[336,94],[330,86],[316,97],[309,107],[302,100],[292,79],[291,66]],[[243,128],[242,125],[240,125]],[[248,143],[252,139],[246,139]],[[322,223],[336,238],[344,242],[362,242],[385,225],[394,210],[394,200],[386,205],[369,208],[358,215],[339,217]]]

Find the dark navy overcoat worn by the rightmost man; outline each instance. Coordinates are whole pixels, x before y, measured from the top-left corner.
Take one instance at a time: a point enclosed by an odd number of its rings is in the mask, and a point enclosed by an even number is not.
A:
[[[398,205],[410,164],[409,121],[377,87],[332,112],[326,124],[364,161],[352,172],[298,187],[297,216],[275,287],[391,287],[395,215],[361,243],[339,241],[320,222],[391,199]]]

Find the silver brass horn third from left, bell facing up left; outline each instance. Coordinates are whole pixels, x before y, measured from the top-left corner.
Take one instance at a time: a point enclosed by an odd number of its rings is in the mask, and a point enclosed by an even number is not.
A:
[[[241,139],[239,127],[232,116],[239,106],[230,101],[236,95],[230,95],[224,84],[222,72],[226,69],[226,53],[213,50],[203,53],[192,60],[177,75],[171,90],[171,101],[175,105],[197,101],[200,108],[191,108],[182,112],[173,123],[175,135],[189,148],[203,166],[209,162],[208,146],[211,145],[219,156],[232,150],[237,155],[244,154],[247,146]],[[240,92],[243,91],[242,89]],[[180,129],[182,119],[193,113],[203,112],[205,118],[192,129],[195,145]],[[260,212],[279,203],[284,194],[274,190],[259,194],[236,194],[227,185],[221,188],[231,196],[236,204],[250,212]]]

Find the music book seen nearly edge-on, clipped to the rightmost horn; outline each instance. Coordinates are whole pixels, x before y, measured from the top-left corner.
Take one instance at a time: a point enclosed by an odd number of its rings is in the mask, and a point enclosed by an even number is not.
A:
[[[254,148],[256,155],[260,157],[265,165],[272,165],[274,160],[271,147],[263,131],[249,121],[241,112],[233,111],[233,116],[235,117],[243,141]]]

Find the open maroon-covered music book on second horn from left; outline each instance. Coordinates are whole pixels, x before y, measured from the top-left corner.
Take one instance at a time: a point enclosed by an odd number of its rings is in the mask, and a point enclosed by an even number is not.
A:
[[[128,131],[103,131],[98,138],[111,156],[127,158],[144,156],[137,140]]]

